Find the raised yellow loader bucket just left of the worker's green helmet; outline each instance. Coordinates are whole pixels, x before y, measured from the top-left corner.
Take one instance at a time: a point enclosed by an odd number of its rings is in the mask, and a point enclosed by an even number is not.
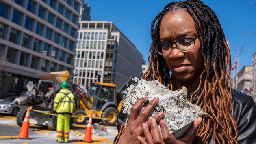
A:
[[[38,74],[40,80],[51,80],[55,82],[63,82],[66,81],[69,77],[68,71],[59,71],[59,72],[50,72],[50,74]]]

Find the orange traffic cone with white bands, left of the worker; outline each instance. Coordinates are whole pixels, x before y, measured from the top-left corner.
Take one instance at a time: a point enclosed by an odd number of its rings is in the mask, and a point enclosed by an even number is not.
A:
[[[31,108],[32,107],[29,107],[27,109],[25,118],[24,118],[23,123],[22,123],[22,127],[20,129],[20,134],[18,136],[19,138],[29,139],[28,138],[28,130],[29,130],[29,116],[30,116]]]

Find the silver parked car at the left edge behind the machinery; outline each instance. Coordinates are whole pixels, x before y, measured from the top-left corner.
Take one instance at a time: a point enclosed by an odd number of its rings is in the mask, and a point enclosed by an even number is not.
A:
[[[0,114],[11,114],[13,116],[17,116],[20,108],[26,108],[14,103],[14,99],[17,97],[19,96],[8,97],[0,101]]]

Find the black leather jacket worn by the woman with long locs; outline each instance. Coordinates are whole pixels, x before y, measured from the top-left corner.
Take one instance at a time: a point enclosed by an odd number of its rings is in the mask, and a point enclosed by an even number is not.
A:
[[[200,93],[197,93],[197,95],[200,95]],[[237,140],[240,144],[256,144],[256,105],[254,100],[249,95],[234,89],[232,89],[232,93],[233,108],[231,114],[238,125],[239,136]],[[197,101],[197,98],[193,99],[193,102],[195,101]],[[118,132],[125,118],[126,114],[121,111],[117,119]],[[116,138],[117,136],[114,143]],[[209,144],[213,144],[213,137]]]

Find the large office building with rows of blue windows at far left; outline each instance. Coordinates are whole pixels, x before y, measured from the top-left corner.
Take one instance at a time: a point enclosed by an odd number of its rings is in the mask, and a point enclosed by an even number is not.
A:
[[[0,70],[20,95],[38,74],[74,70],[83,0],[0,0]]]

